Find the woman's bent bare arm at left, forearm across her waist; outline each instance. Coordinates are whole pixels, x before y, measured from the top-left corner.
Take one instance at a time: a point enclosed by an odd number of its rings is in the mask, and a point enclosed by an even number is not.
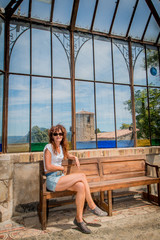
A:
[[[64,171],[63,166],[55,166],[51,163],[51,153],[48,149],[45,151],[45,167],[47,172]]]

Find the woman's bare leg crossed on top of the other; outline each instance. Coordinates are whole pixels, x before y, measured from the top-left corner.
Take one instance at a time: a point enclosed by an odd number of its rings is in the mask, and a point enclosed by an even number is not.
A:
[[[92,199],[86,176],[83,173],[69,174],[61,177],[56,185],[55,190],[56,191],[70,190],[74,186],[74,184],[78,182],[82,182],[84,184],[86,201],[88,203],[88,206],[91,209],[94,209],[96,205]]]

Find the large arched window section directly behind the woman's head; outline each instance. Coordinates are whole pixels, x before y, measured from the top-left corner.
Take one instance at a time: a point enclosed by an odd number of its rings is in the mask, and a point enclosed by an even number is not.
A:
[[[10,32],[8,152],[43,150],[57,123],[71,141],[69,33],[16,22]]]

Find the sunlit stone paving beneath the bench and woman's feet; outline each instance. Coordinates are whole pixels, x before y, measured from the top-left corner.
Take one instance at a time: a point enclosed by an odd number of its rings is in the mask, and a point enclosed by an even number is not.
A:
[[[87,210],[84,219],[92,233],[81,233],[73,225],[75,206],[50,209],[47,229],[41,230],[36,212],[0,223],[0,239],[33,240],[158,240],[160,239],[160,207],[139,197],[117,200],[112,217],[97,217]]]

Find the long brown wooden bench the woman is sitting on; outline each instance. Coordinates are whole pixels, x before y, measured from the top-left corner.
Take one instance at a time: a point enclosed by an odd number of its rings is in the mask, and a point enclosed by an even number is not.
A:
[[[81,171],[74,165],[74,161],[63,161],[63,166],[67,174],[83,172],[86,174],[91,193],[99,192],[98,205],[112,216],[112,191],[115,189],[129,188],[134,186],[147,185],[147,193],[144,196],[148,200],[157,202],[160,205],[160,174],[156,165],[146,162],[144,155],[132,156],[113,156],[113,157],[95,157],[88,159],[79,159]],[[42,161],[41,161],[42,165]],[[156,176],[149,175],[149,167],[154,168]],[[46,176],[43,174],[43,167],[40,167],[40,204],[39,217],[42,229],[46,229],[48,200],[70,196],[75,194],[71,191],[50,192],[46,189]],[[151,195],[151,184],[157,184],[158,196]],[[107,203],[104,199],[104,193],[107,191]],[[59,202],[66,204],[67,202]],[[69,201],[69,203],[71,203]]]

